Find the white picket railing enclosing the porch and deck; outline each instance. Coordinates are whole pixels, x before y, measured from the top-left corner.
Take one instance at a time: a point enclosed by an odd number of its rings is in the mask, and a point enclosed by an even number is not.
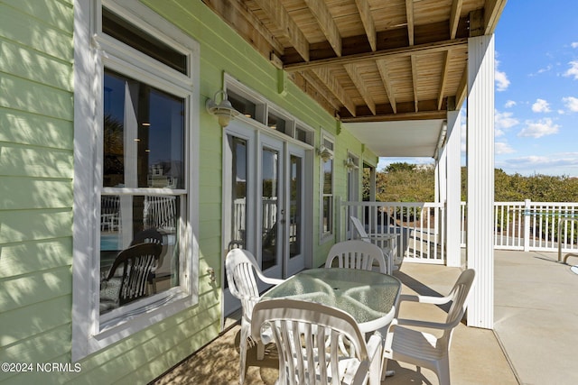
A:
[[[350,215],[368,234],[399,234],[397,258],[445,262],[445,207],[441,203],[340,202],[340,239],[350,234]],[[578,252],[578,203],[495,202],[494,247],[501,250]],[[467,208],[461,203],[461,247],[465,247]]]

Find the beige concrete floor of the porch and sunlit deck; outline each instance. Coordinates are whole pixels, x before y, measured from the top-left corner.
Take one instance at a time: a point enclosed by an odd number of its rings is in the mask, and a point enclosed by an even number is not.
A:
[[[569,263],[578,263],[570,258]],[[403,293],[445,294],[460,274],[458,268],[404,263],[395,272]],[[495,252],[494,330],[459,325],[452,337],[452,384],[576,384],[572,370],[578,357],[578,276],[557,263],[552,252]],[[407,304],[400,316],[443,319],[440,307]],[[237,384],[239,326],[166,372],[151,384]],[[246,384],[273,384],[277,377],[275,348],[256,361],[247,355]],[[384,382],[437,384],[433,371],[389,361],[396,375]]]

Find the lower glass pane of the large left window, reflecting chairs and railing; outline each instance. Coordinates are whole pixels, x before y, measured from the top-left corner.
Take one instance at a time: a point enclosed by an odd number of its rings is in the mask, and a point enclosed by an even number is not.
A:
[[[100,201],[100,314],[179,285],[180,197],[110,195]],[[139,243],[158,243],[158,260],[125,271],[115,260]],[[135,256],[136,258],[136,256]],[[142,263],[141,263],[142,265]],[[126,273],[126,274],[125,274]],[[142,290],[136,289],[140,274]],[[129,282],[132,285],[129,285]]]

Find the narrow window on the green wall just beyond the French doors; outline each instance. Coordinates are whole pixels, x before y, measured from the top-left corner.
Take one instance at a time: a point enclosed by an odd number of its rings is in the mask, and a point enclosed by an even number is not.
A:
[[[333,149],[334,139],[329,133],[322,132],[319,155],[321,158],[321,215],[320,215],[320,235],[321,242],[331,238],[333,234]]]

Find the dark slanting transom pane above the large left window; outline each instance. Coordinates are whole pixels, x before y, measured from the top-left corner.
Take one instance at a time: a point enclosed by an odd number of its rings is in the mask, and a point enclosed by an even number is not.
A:
[[[140,50],[154,60],[188,75],[187,56],[156,39],[154,36],[126,22],[107,8],[102,8],[102,32]]]

